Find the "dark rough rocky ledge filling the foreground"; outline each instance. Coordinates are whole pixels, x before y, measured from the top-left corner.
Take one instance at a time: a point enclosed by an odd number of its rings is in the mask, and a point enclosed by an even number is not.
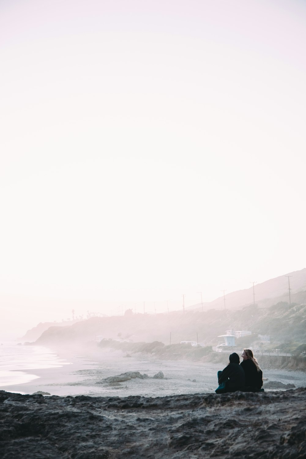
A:
[[[171,397],[0,391],[1,459],[306,457],[306,388]]]

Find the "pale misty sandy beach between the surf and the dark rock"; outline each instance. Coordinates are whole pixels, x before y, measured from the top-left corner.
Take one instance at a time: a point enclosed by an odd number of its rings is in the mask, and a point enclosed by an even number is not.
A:
[[[150,354],[126,357],[126,353],[105,350],[95,345],[82,349],[65,348],[57,350],[63,366],[56,368],[23,370],[38,378],[23,384],[1,386],[1,390],[33,394],[38,391],[57,396],[145,396],[160,397],[192,393],[211,393],[217,387],[217,370],[224,364],[190,362],[182,360],[160,360]],[[132,379],[117,386],[103,380],[128,371],[138,371],[148,379]],[[162,371],[163,379],[153,376]],[[264,369],[267,381],[279,381],[306,386],[306,374],[301,371]]]

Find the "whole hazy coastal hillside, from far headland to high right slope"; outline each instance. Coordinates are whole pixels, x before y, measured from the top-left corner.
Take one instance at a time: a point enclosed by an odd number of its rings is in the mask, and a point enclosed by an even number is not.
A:
[[[98,341],[128,339],[133,341],[162,341],[165,344],[180,341],[199,341],[208,346],[217,345],[219,335],[226,330],[250,330],[252,334],[271,336],[271,345],[306,342],[304,320],[306,304],[306,269],[279,276],[253,287],[228,293],[225,299],[196,304],[182,311],[159,314],[134,314],[131,309],[124,316],[106,317],[101,313],[88,315],[76,321],[39,324],[23,336],[24,341],[38,343],[53,341]],[[73,305],[72,305],[73,307]],[[60,330],[60,328],[63,330]],[[197,335],[198,334],[198,335]],[[100,337],[100,338],[97,338]],[[287,346],[288,347],[288,346]],[[289,345],[290,348],[294,344]]]

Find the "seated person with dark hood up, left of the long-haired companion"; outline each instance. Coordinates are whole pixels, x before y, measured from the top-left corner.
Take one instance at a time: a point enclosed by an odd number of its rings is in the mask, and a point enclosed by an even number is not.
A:
[[[229,364],[223,371],[218,371],[219,387],[215,391],[217,394],[243,390],[245,386],[245,372],[239,365],[239,362],[239,355],[233,352],[229,356]]]

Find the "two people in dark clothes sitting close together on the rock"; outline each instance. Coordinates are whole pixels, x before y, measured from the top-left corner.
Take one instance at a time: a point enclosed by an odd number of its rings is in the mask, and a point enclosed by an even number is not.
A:
[[[261,389],[262,371],[252,351],[244,349],[241,357],[243,360],[239,364],[239,355],[232,353],[229,356],[229,364],[223,371],[218,371],[219,387],[215,391],[217,394],[235,391],[263,391]]]

